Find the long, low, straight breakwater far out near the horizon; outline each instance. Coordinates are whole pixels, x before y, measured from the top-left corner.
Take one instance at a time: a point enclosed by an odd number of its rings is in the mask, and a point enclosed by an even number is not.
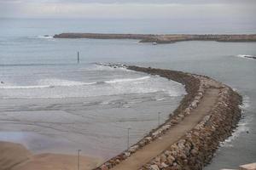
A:
[[[103,34],[103,33],[61,33],[55,38],[91,39],[138,39],[139,42],[173,43],[183,41],[256,42],[256,34]]]

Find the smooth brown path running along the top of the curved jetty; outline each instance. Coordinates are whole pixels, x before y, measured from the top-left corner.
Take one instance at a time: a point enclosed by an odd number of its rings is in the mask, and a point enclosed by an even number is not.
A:
[[[154,140],[152,143],[145,145],[141,150],[137,150],[125,161],[121,161],[119,165],[111,168],[113,170],[136,170],[151,161],[155,156],[160,155],[169,146],[177,142],[183,135],[188,133],[195,127],[204,116],[207,116],[208,111],[217,102],[220,84],[218,82],[207,81],[210,88],[207,88],[201,103],[191,111],[189,116],[185,116],[182,122],[169,129],[163,134],[160,139]]]

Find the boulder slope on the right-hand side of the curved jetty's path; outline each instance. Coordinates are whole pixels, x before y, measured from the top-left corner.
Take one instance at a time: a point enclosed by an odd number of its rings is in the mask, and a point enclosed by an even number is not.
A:
[[[176,144],[141,169],[202,169],[212,160],[218,144],[228,138],[240,118],[241,97],[230,88],[222,88],[218,103],[205,118]],[[149,169],[150,169],[149,168]]]

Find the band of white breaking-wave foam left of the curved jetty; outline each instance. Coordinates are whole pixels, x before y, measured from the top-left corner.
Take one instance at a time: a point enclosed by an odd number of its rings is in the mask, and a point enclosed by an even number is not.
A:
[[[138,83],[139,82],[139,83]],[[168,94],[171,97],[185,94],[180,84],[163,77],[127,77],[102,82],[79,82],[57,78],[41,79],[29,86],[0,86],[1,98],[76,98],[119,94]],[[160,99],[161,100],[161,99]]]

